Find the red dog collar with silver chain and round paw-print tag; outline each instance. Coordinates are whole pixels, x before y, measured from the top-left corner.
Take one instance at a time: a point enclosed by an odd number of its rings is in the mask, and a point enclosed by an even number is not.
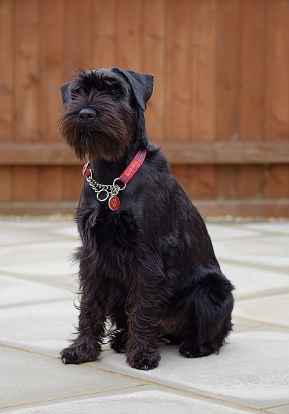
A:
[[[117,194],[119,194],[120,191],[126,188],[126,185],[133,178],[133,175],[135,175],[137,170],[142,166],[142,163],[145,161],[146,155],[146,149],[137,152],[133,161],[129,163],[125,171],[123,171],[123,173],[121,173],[121,175],[118,178],[114,179],[112,185],[99,184],[93,179],[93,171],[91,169],[89,161],[83,166],[82,174],[84,175],[84,177],[86,177],[86,180],[90,187],[92,187],[96,192],[96,198],[98,199],[98,201],[106,201],[107,199],[109,199],[108,206],[111,210],[115,211],[119,208],[121,203],[119,201],[119,197],[117,197]],[[116,181],[121,181],[123,183],[123,187],[119,187],[119,185],[116,184]],[[101,198],[101,193],[105,193],[105,197]]]

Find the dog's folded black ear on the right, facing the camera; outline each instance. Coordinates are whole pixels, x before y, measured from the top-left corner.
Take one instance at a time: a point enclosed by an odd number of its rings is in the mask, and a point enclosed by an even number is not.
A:
[[[147,101],[152,96],[152,90],[154,88],[154,75],[145,74],[142,72],[133,72],[132,70],[119,69],[119,72],[125,76],[128,84],[135,95],[137,104],[142,109],[142,112],[147,109]]]

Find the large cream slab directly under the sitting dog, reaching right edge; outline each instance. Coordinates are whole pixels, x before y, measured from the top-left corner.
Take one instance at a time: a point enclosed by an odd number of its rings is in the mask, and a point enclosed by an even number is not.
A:
[[[288,403],[289,331],[254,329],[232,333],[219,355],[186,359],[177,347],[162,348],[158,368],[133,370],[126,357],[105,352],[89,363],[137,378],[213,396],[251,408]]]

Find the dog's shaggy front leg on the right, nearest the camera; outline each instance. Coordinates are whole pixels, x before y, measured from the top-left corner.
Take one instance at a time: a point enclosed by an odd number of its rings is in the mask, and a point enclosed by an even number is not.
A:
[[[163,343],[159,325],[163,304],[164,276],[154,260],[137,266],[130,279],[126,314],[128,315],[127,363],[136,369],[150,370],[159,365],[159,347]]]

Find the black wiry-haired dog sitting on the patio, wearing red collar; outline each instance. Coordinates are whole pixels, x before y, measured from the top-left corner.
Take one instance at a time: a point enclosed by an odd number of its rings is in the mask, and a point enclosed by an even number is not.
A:
[[[61,87],[60,131],[80,159],[92,160],[76,214],[79,328],[61,352],[64,363],[95,361],[111,335],[130,366],[149,370],[166,340],[184,356],[206,356],[231,330],[233,286],[201,216],[147,138],[153,81],[114,67],[81,72]]]

